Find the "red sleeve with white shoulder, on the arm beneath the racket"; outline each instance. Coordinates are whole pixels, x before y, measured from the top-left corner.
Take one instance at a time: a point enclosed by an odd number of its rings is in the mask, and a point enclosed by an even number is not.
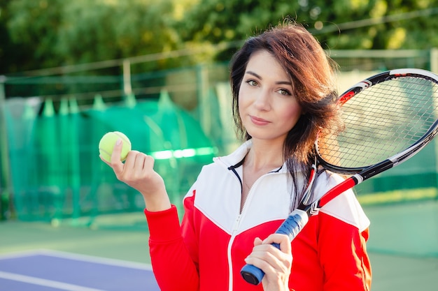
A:
[[[344,181],[336,174],[320,177],[318,193]],[[325,204],[318,214],[318,256],[323,290],[369,290],[371,265],[366,241],[369,219],[350,189]]]

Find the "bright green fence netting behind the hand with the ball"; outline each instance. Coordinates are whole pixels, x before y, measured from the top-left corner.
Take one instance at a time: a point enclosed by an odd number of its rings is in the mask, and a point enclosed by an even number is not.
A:
[[[166,92],[159,100],[129,107],[96,104],[79,111],[74,100],[62,100],[55,112],[50,100],[6,102],[17,218],[59,221],[143,209],[141,195],[115,179],[99,159],[99,140],[108,131],[122,131],[133,149],[155,157],[155,170],[167,181],[176,204],[200,167],[217,154],[199,123],[171,103]]]

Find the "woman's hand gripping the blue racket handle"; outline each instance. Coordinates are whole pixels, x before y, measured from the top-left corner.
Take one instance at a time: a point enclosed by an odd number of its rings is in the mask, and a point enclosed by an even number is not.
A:
[[[280,249],[271,246],[272,243],[280,244]],[[262,280],[264,291],[289,290],[292,248],[290,239],[285,234],[271,234],[264,241],[257,237],[254,240],[253,252],[245,262],[264,271]]]

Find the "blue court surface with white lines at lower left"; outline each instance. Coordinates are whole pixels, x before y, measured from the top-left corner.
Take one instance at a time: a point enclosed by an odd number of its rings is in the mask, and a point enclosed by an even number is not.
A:
[[[0,256],[1,291],[159,291],[149,264],[38,250]]]

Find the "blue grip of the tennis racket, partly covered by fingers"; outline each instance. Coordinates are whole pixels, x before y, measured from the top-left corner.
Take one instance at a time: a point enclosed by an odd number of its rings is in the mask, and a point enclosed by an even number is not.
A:
[[[303,229],[304,225],[309,221],[309,215],[306,211],[295,209],[290,213],[288,218],[278,227],[275,233],[286,234],[290,241],[294,239],[297,234]],[[280,249],[280,244],[271,244]],[[240,270],[243,279],[253,285],[258,285],[262,282],[264,271],[255,267],[253,264],[246,264]]]

